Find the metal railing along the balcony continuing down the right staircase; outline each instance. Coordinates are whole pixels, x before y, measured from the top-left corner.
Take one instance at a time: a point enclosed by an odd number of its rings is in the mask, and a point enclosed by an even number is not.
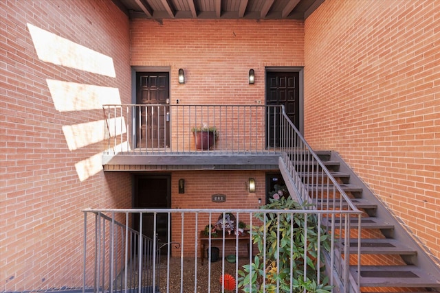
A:
[[[278,165],[289,194],[296,196],[298,202],[307,203],[307,213],[326,215],[321,220],[327,226],[336,223],[341,237],[360,239],[361,211],[289,120],[283,106],[105,105],[104,113],[109,154],[196,152],[191,130],[203,125],[215,126],[219,135],[212,148],[198,154],[276,151],[280,154]],[[148,126],[145,129],[153,129],[154,125],[159,127],[147,135],[147,130],[142,134],[142,125]],[[351,231],[353,221],[357,222],[357,235]],[[338,239],[338,243],[349,246],[349,241],[344,239]],[[357,243],[360,251],[360,241]],[[328,255],[329,274],[336,283],[342,282],[339,287],[345,292],[348,292],[347,288],[359,292],[356,284],[360,283],[360,253],[358,275],[354,280],[349,274],[348,248],[332,249]]]

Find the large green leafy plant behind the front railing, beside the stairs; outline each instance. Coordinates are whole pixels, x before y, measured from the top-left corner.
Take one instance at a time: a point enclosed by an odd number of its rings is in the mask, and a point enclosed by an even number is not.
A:
[[[305,207],[307,204],[301,206],[290,197],[281,197],[271,198],[270,203],[261,208],[281,210]],[[305,290],[326,293],[331,290],[326,278],[316,279],[316,270],[322,272],[325,270],[323,254],[320,254],[322,266],[316,267],[318,248],[329,251],[331,239],[323,228],[318,227],[318,220],[314,215],[307,214],[307,219],[305,216],[304,213],[270,212],[256,215],[263,224],[254,226],[250,233],[252,233],[252,241],[259,248],[259,253],[252,263],[242,266],[242,270],[238,272],[238,287],[243,292],[276,292],[277,288],[280,292]],[[319,233],[318,229],[320,229]],[[304,237],[306,230],[307,239]],[[307,266],[306,276],[305,266]]]

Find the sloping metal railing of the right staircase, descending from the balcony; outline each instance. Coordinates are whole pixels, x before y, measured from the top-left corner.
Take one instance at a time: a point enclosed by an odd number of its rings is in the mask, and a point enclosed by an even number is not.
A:
[[[267,119],[273,119],[267,123],[267,131],[269,136],[271,132],[275,134],[279,131],[278,136],[274,135],[274,137],[278,137],[279,141],[274,141],[274,144],[279,145],[281,150],[279,167],[289,193],[296,194],[299,202],[309,204],[309,209],[344,211],[344,213],[340,213],[339,217],[336,217],[334,213],[329,214],[329,218],[325,221],[329,231],[338,231],[340,235],[338,243],[346,246],[343,250],[331,250],[334,251],[334,254],[328,255],[327,266],[335,269],[337,276],[333,274],[333,270],[329,272],[329,276],[335,279],[336,283],[333,285],[339,284],[340,291],[360,292],[362,211],[355,207],[325,163],[312,150],[303,135],[287,117],[284,106],[267,110],[279,111],[282,114],[267,113]],[[356,222],[358,235],[352,235],[351,224]],[[349,239],[351,237],[358,238],[358,275],[355,280],[351,277],[349,270],[351,259]],[[342,248],[342,245],[340,247]]]

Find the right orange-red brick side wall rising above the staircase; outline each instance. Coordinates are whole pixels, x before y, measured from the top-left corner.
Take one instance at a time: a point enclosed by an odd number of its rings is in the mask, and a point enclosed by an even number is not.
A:
[[[439,1],[325,1],[305,22],[305,137],[440,257]]]

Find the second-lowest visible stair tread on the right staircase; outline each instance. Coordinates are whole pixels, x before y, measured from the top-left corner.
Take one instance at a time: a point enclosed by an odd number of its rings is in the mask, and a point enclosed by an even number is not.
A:
[[[358,253],[358,239],[350,240],[350,253]],[[360,253],[365,255],[417,255],[417,251],[396,239],[361,239]]]

